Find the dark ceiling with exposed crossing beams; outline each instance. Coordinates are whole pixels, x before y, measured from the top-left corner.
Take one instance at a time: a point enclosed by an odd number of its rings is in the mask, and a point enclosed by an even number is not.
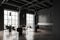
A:
[[[50,8],[53,5],[53,0],[6,0],[3,4],[39,11],[44,8]]]

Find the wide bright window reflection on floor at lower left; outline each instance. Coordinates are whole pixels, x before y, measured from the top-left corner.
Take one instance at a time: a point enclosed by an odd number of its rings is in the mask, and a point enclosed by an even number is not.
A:
[[[3,40],[18,40],[18,32],[12,31],[11,34],[9,35],[9,31],[4,30]]]

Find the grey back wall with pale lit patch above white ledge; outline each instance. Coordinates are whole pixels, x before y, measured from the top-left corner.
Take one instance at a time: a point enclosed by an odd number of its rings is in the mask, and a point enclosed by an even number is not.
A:
[[[51,8],[46,8],[46,9],[42,9],[38,12],[38,22],[48,22],[48,23],[52,23],[53,22],[53,7]]]

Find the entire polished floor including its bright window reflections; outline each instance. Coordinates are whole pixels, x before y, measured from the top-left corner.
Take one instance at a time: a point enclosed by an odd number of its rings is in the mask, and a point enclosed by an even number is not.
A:
[[[37,32],[31,31],[31,32],[29,32],[29,34],[26,34],[26,31],[24,31],[23,35],[20,37],[18,37],[18,33],[16,31],[13,31],[13,35],[10,35],[7,37],[6,37],[6,34],[8,34],[8,33],[6,32],[5,37],[3,37],[4,36],[3,31],[0,31],[0,40],[53,40],[52,32],[42,30],[42,29],[38,29]],[[26,37],[26,35],[28,35],[28,36]],[[10,37],[10,39],[9,39],[9,37]]]

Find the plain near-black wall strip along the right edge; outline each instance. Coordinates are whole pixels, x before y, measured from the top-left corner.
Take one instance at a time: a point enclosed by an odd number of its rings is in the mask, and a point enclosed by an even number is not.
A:
[[[54,0],[53,8],[55,40],[60,40],[60,0]]]

